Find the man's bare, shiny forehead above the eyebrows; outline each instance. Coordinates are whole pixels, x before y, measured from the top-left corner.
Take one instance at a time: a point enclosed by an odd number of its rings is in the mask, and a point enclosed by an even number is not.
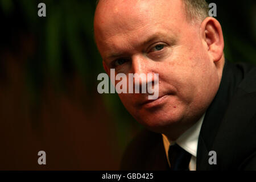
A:
[[[175,33],[185,19],[181,0],[101,0],[94,17],[96,43],[101,52],[124,39],[128,44],[156,31]]]

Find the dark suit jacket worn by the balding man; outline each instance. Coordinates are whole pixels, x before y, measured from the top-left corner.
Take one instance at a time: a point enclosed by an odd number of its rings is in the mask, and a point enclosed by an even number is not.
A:
[[[210,165],[209,151],[217,164]],[[121,170],[167,170],[162,135],[143,130],[129,144]],[[197,170],[256,170],[256,68],[226,61],[220,88],[205,113]]]

